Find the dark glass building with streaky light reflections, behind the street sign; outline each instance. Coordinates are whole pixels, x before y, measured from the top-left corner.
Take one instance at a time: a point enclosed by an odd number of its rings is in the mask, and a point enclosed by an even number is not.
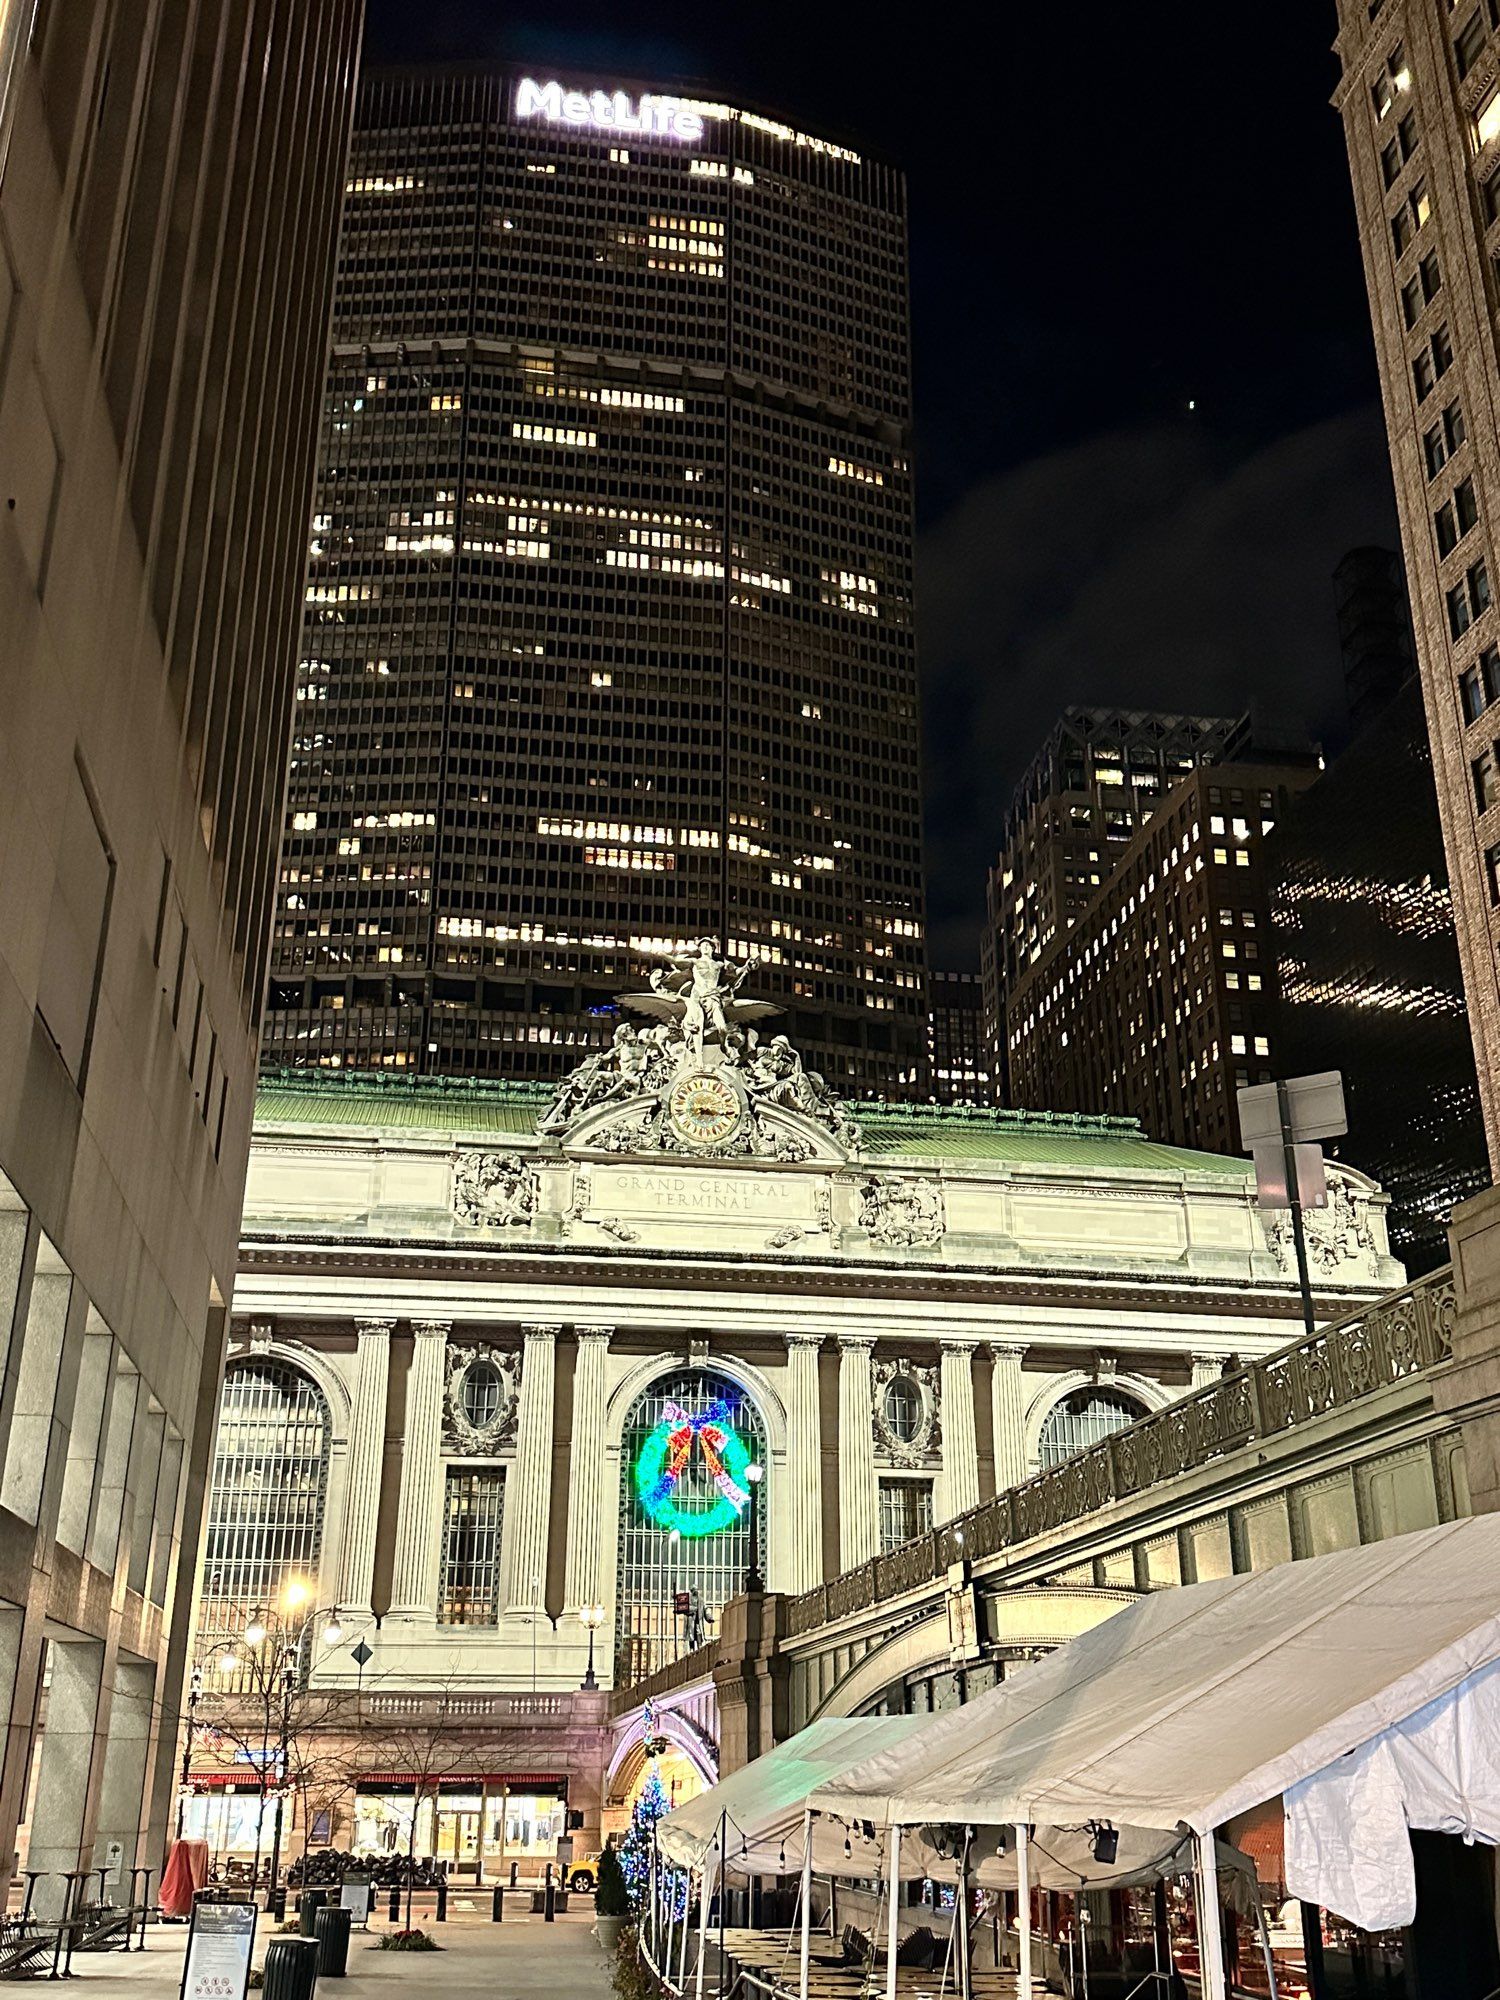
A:
[[[1490,1182],[1474,1046],[1400,558],[1354,550],[1334,586],[1362,726],[1268,844],[1278,1068],[1342,1070],[1348,1136],[1326,1150],[1380,1180],[1392,1250],[1430,1270]]]

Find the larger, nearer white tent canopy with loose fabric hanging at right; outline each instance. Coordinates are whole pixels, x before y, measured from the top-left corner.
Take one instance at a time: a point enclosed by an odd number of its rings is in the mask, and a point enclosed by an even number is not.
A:
[[[826,1780],[812,1804],[878,1828],[1096,1818],[1208,1832],[1428,1708],[1500,1692],[1484,1674],[1500,1660],[1496,1576],[1500,1516],[1480,1516],[1162,1590]],[[1478,1838],[1500,1836],[1498,1766],[1446,1780]]]

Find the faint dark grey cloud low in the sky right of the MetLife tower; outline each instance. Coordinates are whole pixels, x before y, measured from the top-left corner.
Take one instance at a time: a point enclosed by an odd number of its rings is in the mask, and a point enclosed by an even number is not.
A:
[[[1190,418],[968,492],[920,542],[936,966],[972,964],[1010,788],[1070,702],[1344,724],[1332,570],[1396,546],[1380,412],[1236,456]]]

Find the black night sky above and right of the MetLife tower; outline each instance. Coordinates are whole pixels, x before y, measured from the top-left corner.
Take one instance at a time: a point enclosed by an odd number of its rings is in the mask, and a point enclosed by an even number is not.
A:
[[[1068,702],[1338,746],[1330,572],[1396,520],[1332,0],[890,12],[368,0],[366,58],[712,84],[906,168],[932,964],[968,966]]]

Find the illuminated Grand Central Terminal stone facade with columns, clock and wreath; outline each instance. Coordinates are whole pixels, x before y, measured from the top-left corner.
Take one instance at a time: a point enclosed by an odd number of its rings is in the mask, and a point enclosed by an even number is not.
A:
[[[556,1092],[262,1086],[198,1656],[288,1588],[316,1614],[348,1798],[298,1842],[404,1852],[416,1810],[420,1852],[494,1880],[596,1840],[642,1770],[608,1692],[746,1580],[812,1588],[1296,1336],[1248,1162],[842,1104],[742,978],[672,962]],[[1402,1280],[1350,1168],[1310,1262],[1320,1316]],[[258,1786],[202,1684],[188,1826],[240,1848]],[[688,1718],[658,1748],[678,1796],[712,1778]]]

